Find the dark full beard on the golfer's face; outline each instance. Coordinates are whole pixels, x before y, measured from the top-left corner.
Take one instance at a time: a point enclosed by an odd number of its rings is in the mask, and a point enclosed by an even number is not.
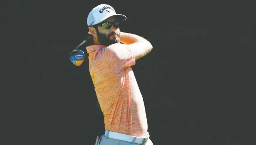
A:
[[[114,35],[114,34],[117,34],[117,37],[113,37],[113,39],[111,40],[110,37],[111,37],[111,35]],[[97,37],[98,37],[98,41],[101,43],[101,45],[109,46],[111,44],[120,43],[120,33],[119,32],[110,33],[110,34],[106,35],[104,33],[100,33],[99,31],[97,31]]]

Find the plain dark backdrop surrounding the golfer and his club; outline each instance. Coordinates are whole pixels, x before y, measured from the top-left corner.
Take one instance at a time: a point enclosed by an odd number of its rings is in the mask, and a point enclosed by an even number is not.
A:
[[[9,0],[1,1],[2,145],[93,145],[104,133],[87,55],[79,67],[68,59],[102,3],[127,16],[121,31],[153,45],[132,68],[154,145],[253,144],[252,3]]]

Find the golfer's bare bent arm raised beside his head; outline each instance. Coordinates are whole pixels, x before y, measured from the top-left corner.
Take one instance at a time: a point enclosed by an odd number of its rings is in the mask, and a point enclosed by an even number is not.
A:
[[[147,55],[153,48],[149,41],[138,35],[120,32],[120,36],[120,41],[133,50],[135,60]]]

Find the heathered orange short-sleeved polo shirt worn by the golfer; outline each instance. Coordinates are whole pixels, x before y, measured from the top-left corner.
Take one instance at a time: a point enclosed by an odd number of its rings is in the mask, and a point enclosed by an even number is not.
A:
[[[89,70],[95,87],[105,129],[143,137],[147,135],[147,118],[139,86],[131,65],[135,56],[128,45],[87,47]]]

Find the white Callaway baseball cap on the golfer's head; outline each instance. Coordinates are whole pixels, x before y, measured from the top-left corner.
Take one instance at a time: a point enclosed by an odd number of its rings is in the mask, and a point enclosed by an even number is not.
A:
[[[88,27],[91,27],[93,25],[96,25],[97,23],[101,23],[102,21],[111,16],[116,16],[121,21],[126,20],[125,15],[116,14],[115,9],[110,5],[101,4],[93,8],[92,11],[89,13],[87,17],[87,25]]]

